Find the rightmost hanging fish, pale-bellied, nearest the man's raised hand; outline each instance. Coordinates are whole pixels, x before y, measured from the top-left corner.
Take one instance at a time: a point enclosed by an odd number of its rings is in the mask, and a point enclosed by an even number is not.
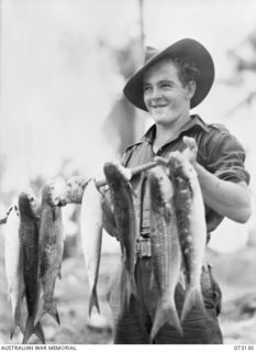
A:
[[[201,272],[205,252],[207,224],[197,172],[179,152],[169,158],[176,187],[176,211],[186,277],[186,298],[181,321],[198,307],[205,315],[201,294]]]

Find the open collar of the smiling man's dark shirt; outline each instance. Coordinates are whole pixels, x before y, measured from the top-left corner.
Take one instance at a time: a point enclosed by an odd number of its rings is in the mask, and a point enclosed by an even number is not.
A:
[[[194,127],[199,127],[200,129],[204,130],[205,132],[209,131],[209,127],[207,123],[198,116],[192,114],[190,116],[190,120],[186,122],[180,130],[175,134],[175,136],[171,138],[171,141],[180,135],[180,133],[189,131],[193,129]],[[142,141],[147,141],[148,143],[153,143],[156,134],[156,124],[153,124],[145,135],[142,138]]]

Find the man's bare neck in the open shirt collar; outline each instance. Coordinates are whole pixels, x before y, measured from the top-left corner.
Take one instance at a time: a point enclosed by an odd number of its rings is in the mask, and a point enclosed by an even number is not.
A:
[[[153,144],[153,150],[156,153],[163,145],[165,145],[178,131],[190,120],[190,116],[181,119],[178,123],[163,125],[156,124],[156,135]]]

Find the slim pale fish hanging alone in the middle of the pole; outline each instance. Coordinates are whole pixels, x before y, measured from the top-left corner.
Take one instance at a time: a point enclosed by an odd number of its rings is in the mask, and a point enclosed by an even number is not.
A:
[[[93,179],[86,186],[81,200],[80,234],[90,289],[89,317],[93,307],[100,312],[97,283],[100,267],[103,212],[102,196]]]

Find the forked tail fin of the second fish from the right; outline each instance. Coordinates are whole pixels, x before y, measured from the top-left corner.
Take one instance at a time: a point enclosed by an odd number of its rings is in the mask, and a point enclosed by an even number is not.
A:
[[[175,304],[170,305],[169,302],[163,304],[162,301],[159,301],[156,308],[154,323],[151,331],[151,341],[155,339],[156,334],[165,323],[169,323],[170,326],[175,327],[179,334],[181,337],[183,336],[183,330],[180,324]]]

